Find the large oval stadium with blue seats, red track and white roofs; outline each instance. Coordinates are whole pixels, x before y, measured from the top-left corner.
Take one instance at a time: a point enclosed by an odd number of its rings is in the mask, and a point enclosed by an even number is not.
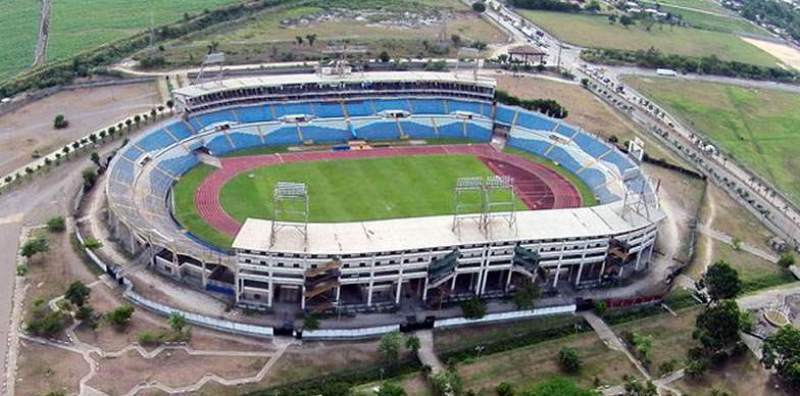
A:
[[[175,94],[179,116],[109,165],[109,224],[152,269],[238,306],[435,309],[527,279],[623,285],[651,265],[664,215],[636,160],[497,103],[491,79],[303,74]]]

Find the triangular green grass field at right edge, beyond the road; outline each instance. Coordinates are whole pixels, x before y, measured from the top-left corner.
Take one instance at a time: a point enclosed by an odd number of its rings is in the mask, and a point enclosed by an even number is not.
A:
[[[800,202],[800,95],[661,78],[625,81]]]

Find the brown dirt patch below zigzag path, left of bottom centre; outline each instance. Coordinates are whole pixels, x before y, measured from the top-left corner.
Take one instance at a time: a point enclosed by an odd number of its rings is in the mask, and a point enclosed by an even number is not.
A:
[[[264,357],[192,356],[181,350],[168,350],[153,359],[144,359],[131,351],[120,357],[99,359],[97,375],[89,385],[114,395],[150,381],[180,387],[191,385],[209,373],[226,379],[253,376],[266,362]]]

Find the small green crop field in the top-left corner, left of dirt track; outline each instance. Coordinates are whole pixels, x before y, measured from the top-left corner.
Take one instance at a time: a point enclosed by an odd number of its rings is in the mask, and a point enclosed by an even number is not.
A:
[[[38,1],[0,0],[0,81],[33,63],[40,10]]]

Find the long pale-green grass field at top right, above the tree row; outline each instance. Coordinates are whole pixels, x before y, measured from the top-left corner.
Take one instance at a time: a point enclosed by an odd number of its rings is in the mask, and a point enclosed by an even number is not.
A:
[[[772,55],[729,33],[661,25],[653,26],[648,32],[639,24],[628,28],[612,25],[605,16],[599,15],[544,11],[522,11],[522,14],[560,39],[582,47],[623,50],[655,47],[665,53],[687,56],[713,54],[723,60],[763,66],[778,63]]]

